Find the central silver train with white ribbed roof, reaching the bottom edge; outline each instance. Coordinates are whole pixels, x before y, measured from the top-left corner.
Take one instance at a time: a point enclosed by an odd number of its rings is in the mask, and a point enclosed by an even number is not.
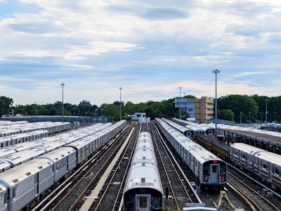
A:
[[[123,196],[124,211],[163,210],[163,189],[151,135],[138,135]]]

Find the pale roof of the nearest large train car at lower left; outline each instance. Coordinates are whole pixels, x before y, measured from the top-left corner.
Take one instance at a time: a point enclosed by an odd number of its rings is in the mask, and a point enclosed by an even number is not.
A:
[[[25,162],[22,165],[13,167],[6,172],[1,172],[0,184],[8,184],[8,186],[14,186],[20,181],[27,179],[33,174],[37,174],[42,169],[53,165],[49,160],[35,159]]]

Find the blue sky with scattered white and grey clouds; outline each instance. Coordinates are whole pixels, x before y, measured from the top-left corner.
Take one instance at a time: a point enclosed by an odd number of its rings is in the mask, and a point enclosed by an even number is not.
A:
[[[0,0],[0,32],[13,106],[281,95],[279,0]]]

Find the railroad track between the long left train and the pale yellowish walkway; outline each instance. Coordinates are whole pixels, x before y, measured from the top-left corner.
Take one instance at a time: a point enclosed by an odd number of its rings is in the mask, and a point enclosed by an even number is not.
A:
[[[105,161],[108,163],[113,159],[112,155],[115,155],[115,151],[122,145],[128,134],[129,129],[127,128],[121,135],[87,160],[84,165],[81,165],[33,210],[79,210],[77,207],[84,202],[85,194],[89,194],[87,192],[91,190],[91,185],[95,186],[94,181],[101,177],[102,168],[106,167]]]

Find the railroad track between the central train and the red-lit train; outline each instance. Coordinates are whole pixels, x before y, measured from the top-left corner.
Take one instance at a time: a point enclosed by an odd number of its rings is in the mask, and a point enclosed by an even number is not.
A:
[[[169,194],[171,194],[169,200],[166,200],[166,202],[169,201],[169,207],[171,207],[171,210],[183,210],[183,207],[186,207],[185,203],[201,203],[183,170],[181,170],[168,146],[159,135],[157,127],[153,125],[151,128],[152,139],[155,141],[157,165],[162,177],[162,186],[164,192],[168,188]]]

